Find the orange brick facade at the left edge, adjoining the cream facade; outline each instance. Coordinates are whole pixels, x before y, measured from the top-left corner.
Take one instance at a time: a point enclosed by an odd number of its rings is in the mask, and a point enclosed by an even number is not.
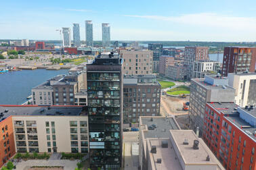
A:
[[[0,167],[2,167],[16,153],[12,117],[0,120],[0,128]]]

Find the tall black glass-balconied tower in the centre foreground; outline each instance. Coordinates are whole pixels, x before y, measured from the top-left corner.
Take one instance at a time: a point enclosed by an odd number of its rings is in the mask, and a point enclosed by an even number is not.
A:
[[[87,65],[91,169],[120,169],[123,148],[123,60],[99,55]]]

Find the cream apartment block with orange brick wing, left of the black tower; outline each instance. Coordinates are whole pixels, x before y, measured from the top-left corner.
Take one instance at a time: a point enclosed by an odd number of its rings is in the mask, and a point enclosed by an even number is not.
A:
[[[16,152],[88,152],[85,107],[1,105],[0,156]],[[1,164],[3,165],[3,164]]]

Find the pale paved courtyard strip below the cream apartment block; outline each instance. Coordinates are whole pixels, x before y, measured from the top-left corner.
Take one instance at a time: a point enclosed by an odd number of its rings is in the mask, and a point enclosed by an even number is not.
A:
[[[32,166],[63,166],[64,170],[74,170],[77,167],[79,160],[28,160],[20,163],[15,163],[16,169],[27,170]]]

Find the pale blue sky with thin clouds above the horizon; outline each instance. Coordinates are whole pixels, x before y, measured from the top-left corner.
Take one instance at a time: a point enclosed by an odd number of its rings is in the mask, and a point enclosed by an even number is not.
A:
[[[255,0],[0,0],[0,39],[59,40],[57,29],[93,21],[111,40],[256,41]],[[72,32],[72,31],[71,31]],[[71,34],[72,37],[72,34]]]

